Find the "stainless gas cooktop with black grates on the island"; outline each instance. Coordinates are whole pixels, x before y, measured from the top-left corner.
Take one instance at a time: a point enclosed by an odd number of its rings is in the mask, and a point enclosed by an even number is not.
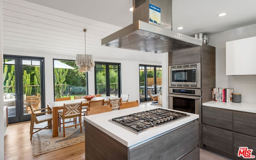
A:
[[[172,110],[156,108],[153,110],[112,118],[112,121],[125,126],[136,133],[140,133],[149,128],[170,123],[185,116],[189,115]]]

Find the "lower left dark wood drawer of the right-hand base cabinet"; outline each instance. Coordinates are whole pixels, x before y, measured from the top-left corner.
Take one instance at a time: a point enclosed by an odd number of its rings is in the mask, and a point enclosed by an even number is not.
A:
[[[233,154],[233,132],[203,124],[203,144]]]

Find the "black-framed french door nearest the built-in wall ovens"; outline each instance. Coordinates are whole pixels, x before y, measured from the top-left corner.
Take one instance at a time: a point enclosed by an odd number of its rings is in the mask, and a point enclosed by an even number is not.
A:
[[[162,92],[162,66],[140,64],[140,102],[151,100],[148,90],[152,94]]]

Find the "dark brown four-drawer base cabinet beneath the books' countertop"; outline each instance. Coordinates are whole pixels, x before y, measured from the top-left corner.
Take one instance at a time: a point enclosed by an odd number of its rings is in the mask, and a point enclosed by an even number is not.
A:
[[[252,149],[256,156],[256,114],[203,106],[204,148],[234,160],[239,147]]]

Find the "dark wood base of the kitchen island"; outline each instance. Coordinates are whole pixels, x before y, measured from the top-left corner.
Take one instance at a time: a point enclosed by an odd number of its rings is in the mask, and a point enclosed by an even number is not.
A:
[[[198,120],[131,147],[85,122],[86,160],[199,160],[198,145]]]

